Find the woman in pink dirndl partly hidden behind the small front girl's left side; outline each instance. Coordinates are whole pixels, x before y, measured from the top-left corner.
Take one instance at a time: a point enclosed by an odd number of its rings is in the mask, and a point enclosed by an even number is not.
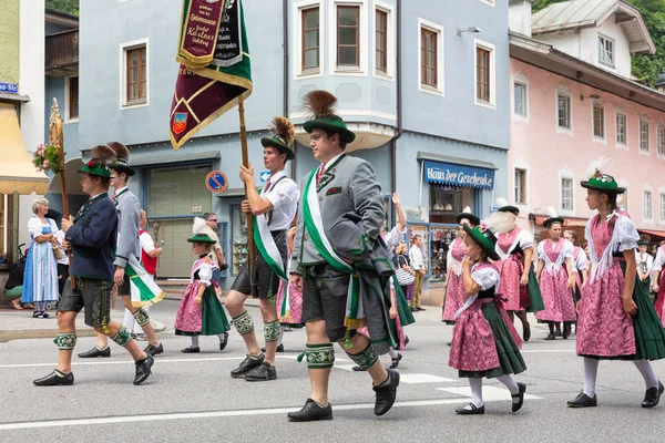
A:
[[[466,207],[456,217],[460,225],[457,238],[448,248],[448,277],[446,279],[446,300],[443,300],[443,321],[454,324],[454,313],[464,305],[464,282],[462,281],[462,261],[464,259],[464,226],[478,226],[480,218],[471,214],[471,208]]]

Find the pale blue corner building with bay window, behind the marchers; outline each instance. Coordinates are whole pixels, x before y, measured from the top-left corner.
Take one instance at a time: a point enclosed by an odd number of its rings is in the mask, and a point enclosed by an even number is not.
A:
[[[296,124],[291,176],[299,182],[318,166],[301,128],[301,99],[314,89],[335,93],[339,114],[358,134],[350,155],[372,164],[389,213],[388,196],[399,192],[411,233],[427,235],[436,280],[433,264],[454,215],[469,205],[484,216],[494,196],[507,195],[508,0],[301,0],[286,7],[263,0],[244,8],[254,81],[246,124],[257,182],[259,140],[275,115]],[[171,148],[180,11],[180,0],[81,3],[78,147],[111,140],[130,147],[139,169],[131,187],[165,250],[161,277],[188,275],[192,216],[216,213],[228,285],[246,258],[238,113]],[[216,169],[228,179],[218,195],[205,187]]]

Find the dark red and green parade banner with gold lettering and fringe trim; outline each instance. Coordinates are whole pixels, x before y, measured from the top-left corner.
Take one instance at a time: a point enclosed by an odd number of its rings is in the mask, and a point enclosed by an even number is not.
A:
[[[187,53],[205,48],[202,42],[211,35],[215,23],[209,24],[209,29],[196,31],[197,21],[192,19],[191,11],[195,3],[211,3],[211,1],[183,0],[181,41],[176,56],[181,65],[170,117],[171,144],[174,150],[181,147],[219,115],[236,106],[241,99],[245,100],[252,94],[249,49],[242,2],[241,0],[219,0],[219,2],[222,13],[218,19],[213,60],[201,68],[198,62],[188,59]],[[208,21],[213,20],[206,18],[205,28],[208,27]],[[187,37],[193,24],[194,34],[198,32],[196,37],[183,38],[183,35]],[[205,51],[197,52],[196,56],[204,53]]]

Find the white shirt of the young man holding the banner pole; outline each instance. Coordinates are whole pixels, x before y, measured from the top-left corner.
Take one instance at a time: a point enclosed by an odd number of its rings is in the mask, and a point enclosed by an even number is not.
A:
[[[284,177],[284,178],[282,178]],[[279,183],[277,183],[279,182]],[[264,214],[269,220],[270,230],[284,230],[288,228],[298,209],[298,185],[288,178],[284,171],[270,176],[270,186],[260,192],[260,197],[273,204],[273,216],[269,212]]]

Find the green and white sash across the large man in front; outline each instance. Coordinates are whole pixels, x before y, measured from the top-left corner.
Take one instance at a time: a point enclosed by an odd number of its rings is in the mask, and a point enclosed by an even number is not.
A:
[[[316,250],[326,260],[326,262],[328,262],[328,265],[336,270],[350,275],[344,326],[347,328],[347,330],[358,329],[366,324],[362,299],[360,298],[360,276],[350,265],[339,258],[337,253],[335,253],[332,245],[330,245],[328,237],[326,237],[324,220],[321,219],[321,210],[316,194],[316,173],[317,169],[314,169],[309,174],[309,177],[307,178],[307,185],[305,186],[305,198],[303,202],[303,219],[305,222],[305,229],[309,234],[309,238],[311,238]],[[348,344],[350,346],[350,343]]]

